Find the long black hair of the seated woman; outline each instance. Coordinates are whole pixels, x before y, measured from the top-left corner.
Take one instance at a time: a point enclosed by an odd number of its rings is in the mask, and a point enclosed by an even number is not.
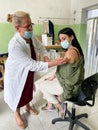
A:
[[[72,40],[71,44],[72,44],[72,46],[76,47],[79,50],[80,55],[82,55],[84,57],[83,51],[81,49],[81,46],[80,46],[80,44],[79,44],[79,42],[78,42],[78,40],[76,38],[76,35],[75,35],[74,31],[71,28],[67,27],[67,28],[64,28],[64,29],[60,30],[59,33],[58,33],[58,36],[60,34],[66,34],[69,37],[71,37],[73,35],[74,39]]]

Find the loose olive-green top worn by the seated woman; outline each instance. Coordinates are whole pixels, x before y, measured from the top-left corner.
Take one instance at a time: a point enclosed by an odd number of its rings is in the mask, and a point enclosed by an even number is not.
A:
[[[62,102],[78,95],[81,83],[84,80],[83,62],[84,58],[81,56],[75,63],[57,67],[56,76],[63,87],[63,93],[60,95]]]

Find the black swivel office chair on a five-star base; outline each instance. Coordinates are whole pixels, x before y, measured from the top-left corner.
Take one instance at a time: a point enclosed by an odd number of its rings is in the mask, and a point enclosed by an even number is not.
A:
[[[67,109],[64,118],[55,118],[52,120],[52,124],[61,121],[70,122],[69,130],[73,130],[74,125],[77,124],[85,130],[90,130],[85,124],[79,121],[80,118],[88,118],[87,113],[76,115],[75,104],[79,106],[94,106],[95,104],[95,94],[98,88],[98,73],[86,78],[81,85],[81,92],[76,98],[71,98],[67,101],[73,103],[71,112]],[[68,115],[68,116],[67,116]]]

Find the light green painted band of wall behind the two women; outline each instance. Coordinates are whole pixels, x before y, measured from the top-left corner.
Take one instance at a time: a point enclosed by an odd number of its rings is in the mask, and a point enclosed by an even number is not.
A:
[[[74,24],[74,25],[55,25],[54,34],[55,40],[58,39],[58,32],[64,27],[71,27],[77,36],[77,39],[80,42],[80,45],[85,51],[85,39],[86,39],[86,25],[85,24]],[[42,34],[42,25],[34,25],[34,34],[41,36]],[[14,35],[15,30],[11,23],[0,23],[0,53],[7,52],[8,43],[11,37]]]

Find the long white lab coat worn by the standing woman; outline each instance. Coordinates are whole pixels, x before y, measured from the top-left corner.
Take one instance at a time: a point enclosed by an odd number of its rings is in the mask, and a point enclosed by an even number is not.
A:
[[[36,52],[46,55],[46,50],[35,36],[32,38]],[[8,59],[5,64],[4,100],[16,111],[29,71],[47,71],[48,63],[31,58],[30,46],[16,33],[8,48]]]

